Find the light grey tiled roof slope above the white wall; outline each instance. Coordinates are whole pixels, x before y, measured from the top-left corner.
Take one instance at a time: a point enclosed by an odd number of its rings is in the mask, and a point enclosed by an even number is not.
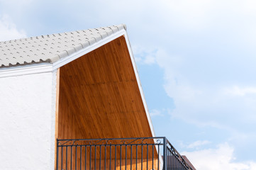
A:
[[[126,25],[2,41],[0,67],[33,62],[57,62],[123,29],[126,29]]]

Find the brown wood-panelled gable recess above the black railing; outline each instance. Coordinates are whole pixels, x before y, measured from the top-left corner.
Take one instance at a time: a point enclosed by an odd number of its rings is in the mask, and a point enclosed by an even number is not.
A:
[[[59,139],[152,137],[124,37],[60,68]]]

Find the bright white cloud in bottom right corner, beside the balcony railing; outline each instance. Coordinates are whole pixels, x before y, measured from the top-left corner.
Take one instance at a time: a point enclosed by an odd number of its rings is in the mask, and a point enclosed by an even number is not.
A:
[[[237,162],[234,149],[228,143],[216,148],[202,149],[194,152],[182,152],[193,163],[197,170],[255,170],[256,162]]]

